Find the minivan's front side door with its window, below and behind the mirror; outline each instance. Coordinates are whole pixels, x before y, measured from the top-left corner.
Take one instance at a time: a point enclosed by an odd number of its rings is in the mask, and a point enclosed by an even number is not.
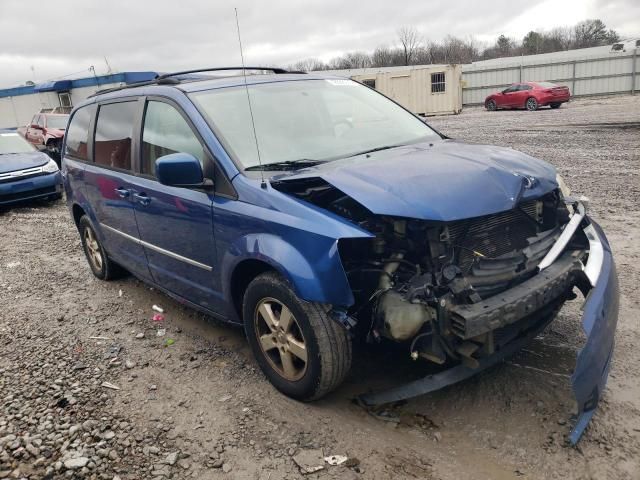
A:
[[[211,160],[178,107],[163,99],[147,99],[141,145],[131,198],[151,276],[170,292],[217,310],[213,193],[162,185],[155,177],[155,161],[164,155],[192,154],[205,176]]]

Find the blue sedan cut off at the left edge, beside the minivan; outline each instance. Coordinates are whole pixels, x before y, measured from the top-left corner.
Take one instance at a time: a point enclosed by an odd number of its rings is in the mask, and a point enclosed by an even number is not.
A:
[[[0,206],[62,197],[58,165],[15,131],[0,130]]]

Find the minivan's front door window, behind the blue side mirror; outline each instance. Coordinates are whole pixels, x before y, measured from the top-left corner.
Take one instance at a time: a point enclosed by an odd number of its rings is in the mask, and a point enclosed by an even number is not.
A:
[[[171,153],[190,153],[204,165],[202,144],[180,112],[164,102],[150,101],[142,132],[142,173],[155,175],[155,162]]]

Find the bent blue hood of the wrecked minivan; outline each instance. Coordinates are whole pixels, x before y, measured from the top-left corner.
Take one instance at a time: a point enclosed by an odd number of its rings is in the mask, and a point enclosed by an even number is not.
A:
[[[434,221],[490,215],[558,187],[555,168],[509,148],[445,140],[359,155],[273,177],[321,178],[372,213]]]

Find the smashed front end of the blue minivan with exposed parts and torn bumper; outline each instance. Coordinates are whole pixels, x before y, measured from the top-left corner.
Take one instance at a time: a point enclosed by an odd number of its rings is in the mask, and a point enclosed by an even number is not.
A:
[[[540,333],[578,287],[587,298],[587,344],[572,377],[577,443],[606,382],[618,309],[610,248],[585,203],[556,189],[508,211],[446,222],[376,215],[320,178],[274,186],[375,235],[338,243],[356,335],[453,365],[363,395],[369,405],[428,393],[497,363]]]

